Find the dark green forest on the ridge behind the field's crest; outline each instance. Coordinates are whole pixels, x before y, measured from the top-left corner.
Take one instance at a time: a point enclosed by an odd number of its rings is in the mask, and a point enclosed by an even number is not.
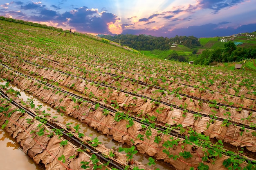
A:
[[[115,36],[111,35],[98,35],[101,38],[109,39],[116,43],[120,43],[122,46],[128,46],[135,50],[169,50],[173,44],[182,44],[188,48],[195,48],[200,46],[200,42],[197,37],[194,36],[178,36],[168,37],[155,37],[151,35],[131,35],[131,34],[119,34]]]

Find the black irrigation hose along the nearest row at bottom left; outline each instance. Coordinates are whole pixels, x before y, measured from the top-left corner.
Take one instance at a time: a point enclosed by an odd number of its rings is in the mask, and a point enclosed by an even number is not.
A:
[[[7,100],[10,101],[9,96],[7,96],[6,94],[4,94],[4,92],[2,92],[2,89],[0,89],[0,94],[1,94],[2,97],[6,98]],[[35,115],[33,112],[31,112],[29,109],[26,109],[25,107],[22,107],[21,105],[19,105],[15,100],[12,100],[11,103],[12,103],[13,105],[15,105],[16,107],[18,107],[18,108],[20,108],[20,109],[22,109],[22,110],[25,110],[26,113],[28,113],[28,114],[29,114],[30,116],[32,116],[32,117],[36,117],[36,116],[37,116],[37,115]],[[47,122],[48,122],[48,121],[47,121]],[[45,124],[46,124],[47,126],[49,126],[49,127],[52,127],[52,129],[55,129],[55,128],[56,128],[55,126],[52,126],[52,124],[49,124],[49,123],[45,123]],[[58,126],[58,125],[57,125],[57,126]],[[95,152],[95,150],[93,150],[92,148],[86,146],[85,144],[82,144],[82,143],[81,143],[79,140],[77,140],[76,138],[67,135],[67,133],[65,133],[65,132],[63,132],[63,131],[61,131],[61,133],[62,133],[63,135],[65,135],[65,136],[71,138],[74,142],[78,143],[79,145],[83,146],[84,148],[90,150],[90,152],[92,152],[92,153]],[[105,157],[103,157],[103,156],[102,156],[101,154],[99,154],[99,153],[94,153],[94,154],[97,155],[97,157],[100,157],[101,159],[103,159],[103,160],[106,161],[106,162],[110,161],[110,160],[106,159]],[[121,168],[120,166],[116,165],[116,164],[113,163],[112,161],[110,161],[110,164],[111,164],[112,166],[115,166],[115,168],[118,168],[119,170],[124,170],[123,168]]]

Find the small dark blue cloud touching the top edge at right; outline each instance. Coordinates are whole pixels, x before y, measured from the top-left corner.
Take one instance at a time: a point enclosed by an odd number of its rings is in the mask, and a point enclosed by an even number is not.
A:
[[[213,14],[218,13],[221,9],[230,8],[245,0],[199,0],[199,6],[202,9],[212,9]]]

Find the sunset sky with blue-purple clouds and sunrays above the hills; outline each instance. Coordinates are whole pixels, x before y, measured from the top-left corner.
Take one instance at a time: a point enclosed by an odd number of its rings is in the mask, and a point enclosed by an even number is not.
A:
[[[256,31],[256,0],[0,0],[0,15],[93,35],[199,38]]]

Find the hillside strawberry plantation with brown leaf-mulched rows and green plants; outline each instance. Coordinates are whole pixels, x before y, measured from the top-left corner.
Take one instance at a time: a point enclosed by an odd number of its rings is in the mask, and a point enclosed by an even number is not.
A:
[[[7,82],[0,124],[35,163],[72,170],[256,168],[255,72],[150,59],[105,39],[42,27],[0,20],[0,78]],[[9,83],[80,124],[35,108]],[[120,146],[86,136],[82,124]],[[147,163],[134,159],[137,153]]]

